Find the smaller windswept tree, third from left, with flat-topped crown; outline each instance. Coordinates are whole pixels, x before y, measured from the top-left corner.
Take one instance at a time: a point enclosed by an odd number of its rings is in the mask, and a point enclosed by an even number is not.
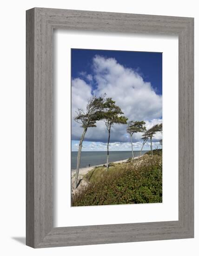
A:
[[[145,127],[145,122],[144,121],[130,121],[128,122],[128,126],[126,128],[126,132],[129,133],[131,137],[131,149],[132,149],[132,158],[134,159],[134,154],[133,154],[133,134],[134,133],[139,133],[139,132],[145,132],[146,127]]]

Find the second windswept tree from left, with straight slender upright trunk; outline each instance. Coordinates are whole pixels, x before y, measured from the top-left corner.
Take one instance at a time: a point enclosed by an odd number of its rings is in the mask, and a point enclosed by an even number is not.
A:
[[[105,121],[106,129],[108,131],[106,171],[108,171],[109,168],[109,142],[111,136],[111,127],[115,123],[126,124],[128,119],[123,114],[124,113],[121,111],[121,109],[115,105],[115,101],[113,101],[112,98],[106,99],[103,113],[103,120]]]

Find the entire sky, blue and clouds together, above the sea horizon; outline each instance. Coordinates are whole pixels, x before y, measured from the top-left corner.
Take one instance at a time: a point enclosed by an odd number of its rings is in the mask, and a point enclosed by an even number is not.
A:
[[[162,53],[71,50],[72,71],[72,151],[78,150],[82,133],[73,121],[77,108],[86,108],[93,94],[112,97],[130,120],[146,121],[146,128],[162,122]],[[83,143],[84,151],[106,150],[107,133],[103,121],[89,128]],[[153,139],[159,146],[161,135]],[[130,150],[125,125],[114,125],[111,150]],[[133,138],[135,150],[141,147],[141,134]],[[146,149],[148,149],[146,144]]]

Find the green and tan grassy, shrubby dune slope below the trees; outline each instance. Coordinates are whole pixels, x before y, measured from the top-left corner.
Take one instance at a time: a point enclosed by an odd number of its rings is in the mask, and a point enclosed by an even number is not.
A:
[[[73,196],[73,206],[162,202],[162,156],[153,151],[133,162],[96,167],[84,179],[89,183]]]

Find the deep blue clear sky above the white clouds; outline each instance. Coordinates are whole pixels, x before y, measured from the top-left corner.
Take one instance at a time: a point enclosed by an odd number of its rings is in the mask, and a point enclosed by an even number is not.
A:
[[[72,49],[72,78],[79,77],[81,72],[92,74],[95,55],[115,58],[124,67],[136,70],[144,81],[151,82],[157,94],[162,94],[162,53]],[[92,87],[95,88],[94,83]]]

